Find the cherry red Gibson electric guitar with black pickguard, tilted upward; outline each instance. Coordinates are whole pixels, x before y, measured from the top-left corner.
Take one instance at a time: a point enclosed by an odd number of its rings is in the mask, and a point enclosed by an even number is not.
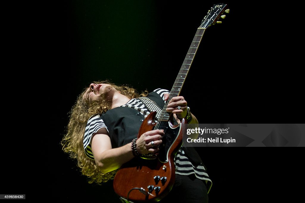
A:
[[[202,20],[170,91],[168,101],[172,97],[179,96],[204,32],[209,26],[221,23],[217,20],[225,17],[225,15],[222,15],[224,12],[229,12],[229,9],[226,8],[226,4],[215,4]],[[143,133],[153,129],[164,130],[165,135],[157,156],[149,154],[151,157],[145,156],[145,159],[135,157],[123,164],[114,177],[114,191],[122,200],[130,202],[160,201],[169,193],[174,184],[174,155],[181,147],[182,124],[185,124],[186,121],[183,119],[180,124],[173,125],[171,122],[172,114],[168,114],[166,108],[167,104],[163,107],[158,122],[155,122],[156,111],[151,112],[143,121],[138,132],[139,138]]]

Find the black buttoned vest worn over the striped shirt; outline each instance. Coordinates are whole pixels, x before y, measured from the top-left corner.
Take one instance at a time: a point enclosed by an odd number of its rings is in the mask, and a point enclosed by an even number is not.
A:
[[[161,109],[164,107],[163,99],[156,92],[149,93],[147,97],[156,102]],[[132,142],[132,139],[137,137],[140,126],[144,121],[144,115],[139,113],[138,110],[128,107],[110,109],[101,117],[108,128],[112,148]],[[194,148],[184,147],[183,150],[194,165],[202,163]]]

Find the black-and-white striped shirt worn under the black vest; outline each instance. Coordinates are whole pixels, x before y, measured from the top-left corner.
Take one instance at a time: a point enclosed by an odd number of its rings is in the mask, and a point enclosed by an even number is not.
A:
[[[170,92],[166,89],[155,89],[156,92],[160,97],[164,100],[164,94],[169,94]],[[165,102],[164,102],[165,103]],[[129,100],[126,104],[122,105],[122,107],[129,107],[138,110],[144,117],[146,118],[149,115],[149,110],[145,107],[144,103],[138,98]],[[84,150],[86,155],[90,159],[94,159],[94,156],[91,151],[91,138],[94,133],[96,133],[100,128],[106,128],[108,131],[107,126],[105,125],[104,121],[100,117],[100,115],[93,115],[89,118],[87,122],[87,126],[84,133]],[[108,131],[109,133],[109,131]],[[179,151],[177,152],[174,163],[176,166],[176,174],[180,175],[191,175],[194,174],[197,178],[201,180],[205,180],[208,186],[208,191],[210,191],[210,187],[212,185],[212,181],[209,178],[209,175],[206,173],[206,169],[203,165],[194,166],[189,161],[188,157],[185,156],[183,148],[180,147]],[[208,183],[209,182],[209,183]]]

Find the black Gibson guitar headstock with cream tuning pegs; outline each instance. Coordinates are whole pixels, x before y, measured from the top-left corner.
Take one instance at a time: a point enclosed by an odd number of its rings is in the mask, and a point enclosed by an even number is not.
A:
[[[201,25],[199,28],[208,28],[211,25],[214,25],[215,23],[221,23],[221,21],[217,21],[219,18],[225,18],[226,15],[222,15],[224,12],[229,13],[229,9],[227,8],[227,4],[215,4],[211,7],[211,9],[208,11],[207,15],[204,17],[204,19],[201,22]]]

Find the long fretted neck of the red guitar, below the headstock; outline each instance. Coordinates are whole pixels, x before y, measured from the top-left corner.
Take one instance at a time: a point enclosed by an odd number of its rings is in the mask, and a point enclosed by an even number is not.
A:
[[[192,44],[190,48],[188,49],[188,53],[186,54],[186,57],[182,63],[182,66],[180,68],[180,71],[178,73],[178,76],[174,82],[174,85],[172,89],[170,90],[170,96],[168,98],[168,101],[171,100],[171,98],[175,96],[179,96],[182,86],[185,82],[186,76],[188,75],[188,71],[191,68],[191,65],[193,63],[193,59],[195,58],[195,55],[197,53],[199,44],[202,40],[203,34],[205,32],[206,28],[198,28],[197,32],[195,34],[195,37],[192,41]],[[167,103],[164,105],[160,120],[161,121],[168,121],[170,119],[170,114],[166,112]]]

